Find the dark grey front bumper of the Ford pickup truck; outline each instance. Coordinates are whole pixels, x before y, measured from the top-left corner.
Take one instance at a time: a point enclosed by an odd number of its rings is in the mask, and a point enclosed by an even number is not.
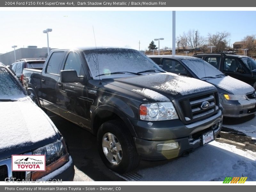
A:
[[[202,145],[202,134],[214,131],[214,136],[220,134],[222,126],[222,112],[205,120],[184,125],[180,120],[151,122],[132,121],[137,135],[135,145],[137,152],[145,160],[162,160],[181,156],[185,152]],[[151,125],[151,126],[150,126]],[[158,144],[178,142],[179,148],[157,151]]]

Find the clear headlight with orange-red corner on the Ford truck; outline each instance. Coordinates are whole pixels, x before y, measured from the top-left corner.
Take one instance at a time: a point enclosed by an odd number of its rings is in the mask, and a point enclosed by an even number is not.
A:
[[[140,105],[140,120],[165,121],[178,118],[172,102],[147,103]]]

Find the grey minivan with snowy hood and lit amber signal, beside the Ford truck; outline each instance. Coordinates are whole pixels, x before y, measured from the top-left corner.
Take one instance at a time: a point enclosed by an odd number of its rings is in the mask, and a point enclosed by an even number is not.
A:
[[[256,113],[255,90],[249,84],[224,75],[202,59],[188,56],[150,55],[167,72],[204,80],[217,87],[223,116],[243,117]]]

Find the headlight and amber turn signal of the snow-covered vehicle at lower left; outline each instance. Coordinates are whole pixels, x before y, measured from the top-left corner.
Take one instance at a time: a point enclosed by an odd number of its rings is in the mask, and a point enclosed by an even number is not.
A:
[[[46,169],[44,172],[36,171],[31,173],[31,179],[40,179],[52,171],[60,168],[68,162],[68,149],[63,138],[54,143],[45,145],[44,147],[34,150],[33,155],[45,155]]]

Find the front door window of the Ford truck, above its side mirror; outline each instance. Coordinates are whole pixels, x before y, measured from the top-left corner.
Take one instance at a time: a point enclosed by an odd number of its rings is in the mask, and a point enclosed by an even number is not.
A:
[[[79,55],[76,52],[70,52],[64,65],[64,70],[75,70],[77,75],[84,76],[84,69]]]

